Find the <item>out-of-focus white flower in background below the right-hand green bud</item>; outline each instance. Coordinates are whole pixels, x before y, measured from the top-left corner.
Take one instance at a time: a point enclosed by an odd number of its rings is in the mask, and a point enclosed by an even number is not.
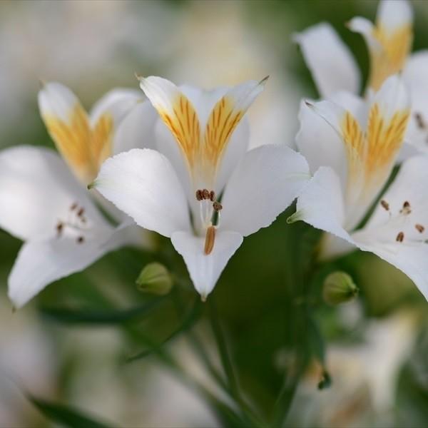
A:
[[[320,367],[314,366],[300,384],[291,420],[335,428],[372,426],[374,421],[390,426],[399,370],[416,342],[416,322],[413,311],[402,310],[369,322],[361,342],[330,344],[332,387],[317,390]]]

